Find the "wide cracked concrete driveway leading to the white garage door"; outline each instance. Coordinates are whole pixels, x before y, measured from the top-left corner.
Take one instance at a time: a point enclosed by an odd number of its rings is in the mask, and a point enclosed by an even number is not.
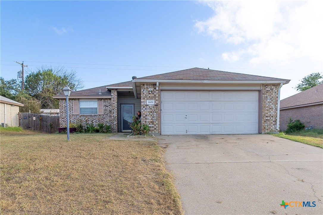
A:
[[[158,138],[185,214],[323,214],[321,148],[266,134]]]

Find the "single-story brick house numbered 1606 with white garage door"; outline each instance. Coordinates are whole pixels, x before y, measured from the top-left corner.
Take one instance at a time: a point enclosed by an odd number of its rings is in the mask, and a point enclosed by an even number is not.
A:
[[[111,125],[130,131],[131,116],[159,134],[250,134],[279,131],[280,87],[290,80],[192,68],[72,92],[73,123]],[[59,99],[61,126],[66,101]]]

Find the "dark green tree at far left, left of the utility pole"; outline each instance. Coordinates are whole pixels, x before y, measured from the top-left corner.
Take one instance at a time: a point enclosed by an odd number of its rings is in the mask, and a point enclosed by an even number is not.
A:
[[[21,91],[21,83],[16,79],[5,81],[0,77],[0,95],[15,100],[15,96]]]

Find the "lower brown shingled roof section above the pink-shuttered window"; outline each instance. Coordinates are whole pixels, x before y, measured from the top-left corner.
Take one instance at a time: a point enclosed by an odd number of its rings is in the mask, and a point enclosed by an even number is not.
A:
[[[101,90],[101,94],[99,94]],[[65,98],[64,93],[53,96],[55,99]],[[71,92],[68,98],[111,98],[111,92],[107,90],[106,85],[94,87],[86,90]]]

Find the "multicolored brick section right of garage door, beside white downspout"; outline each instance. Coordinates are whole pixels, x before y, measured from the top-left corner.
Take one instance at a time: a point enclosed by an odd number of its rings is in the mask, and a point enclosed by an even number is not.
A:
[[[278,132],[277,105],[280,84],[262,84],[262,133]]]

